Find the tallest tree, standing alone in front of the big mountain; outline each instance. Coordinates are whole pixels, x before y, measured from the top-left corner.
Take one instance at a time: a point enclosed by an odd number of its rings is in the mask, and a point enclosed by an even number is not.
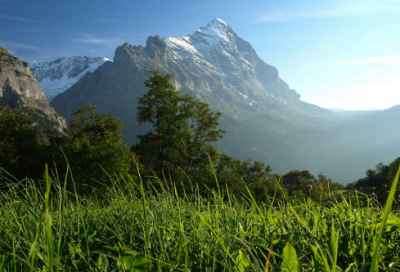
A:
[[[173,74],[163,76],[156,70],[150,74],[144,82],[149,91],[139,98],[137,120],[153,128],[138,135],[140,141],[132,151],[159,176],[198,171],[209,164],[208,156],[217,160],[220,152],[210,143],[225,133],[217,128],[221,113],[213,113],[208,104],[189,94],[181,95],[170,82]]]

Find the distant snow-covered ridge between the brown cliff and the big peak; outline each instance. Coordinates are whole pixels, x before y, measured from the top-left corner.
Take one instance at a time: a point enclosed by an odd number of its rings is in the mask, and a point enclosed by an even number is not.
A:
[[[31,71],[50,102],[58,94],[74,85],[87,72],[93,72],[107,61],[110,60],[104,57],[74,56],[51,62],[33,62]]]

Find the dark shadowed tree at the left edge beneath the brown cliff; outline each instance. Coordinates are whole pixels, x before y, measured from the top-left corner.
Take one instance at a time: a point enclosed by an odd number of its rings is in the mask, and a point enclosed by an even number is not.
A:
[[[18,109],[0,111],[0,168],[18,180],[37,179],[44,170],[42,144],[31,123]]]

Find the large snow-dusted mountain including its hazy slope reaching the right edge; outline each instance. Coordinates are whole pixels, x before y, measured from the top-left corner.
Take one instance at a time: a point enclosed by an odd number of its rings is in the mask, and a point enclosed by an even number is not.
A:
[[[34,71],[42,71],[38,74],[46,75],[43,79],[68,78],[68,71],[75,69],[68,67]],[[240,159],[264,161],[280,174],[307,169],[348,183],[378,162],[389,163],[400,155],[394,146],[400,139],[396,107],[333,112],[301,101],[278,70],[261,60],[220,19],[186,37],[154,36],[145,47],[119,46],[112,62],[104,60],[97,69],[80,73],[83,76],[75,77],[75,83],[69,77],[73,85],[51,105],[68,122],[72,112],[87,103],[114,113],[125,125],[126,141],[132,144],[136,135],[149,129],[136,122],[136,108],[137,99],[147,92],[143,81],[151,69],[174,73],[173,83],[181,93],[190,93],[223,113],[221,123],[227,134],[216,144],[218,148]],[[40,79],[40,84],[46,82]],[[54,89],[59,88],[56,85]]]

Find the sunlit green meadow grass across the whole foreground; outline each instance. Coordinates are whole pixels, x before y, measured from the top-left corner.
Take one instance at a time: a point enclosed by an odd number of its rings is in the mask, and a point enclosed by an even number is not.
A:
[[[1,192],[0,271],[399,271],[398,175],[385,208],[259,205],[224,188],[179,198],[167,181],[163,192],[115,181],[103,198],[79,197],[63,187],[71,178],[46,174]]]

